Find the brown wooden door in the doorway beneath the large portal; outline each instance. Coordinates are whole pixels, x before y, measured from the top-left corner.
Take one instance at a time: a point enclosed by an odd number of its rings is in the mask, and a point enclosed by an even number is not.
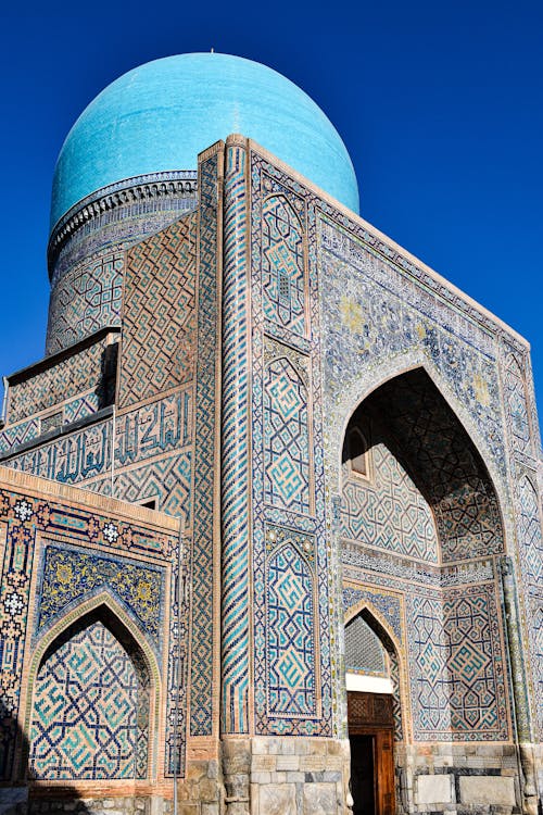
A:
[[[387,693],[348,692],[353,815],[394,815],[394,719]]]

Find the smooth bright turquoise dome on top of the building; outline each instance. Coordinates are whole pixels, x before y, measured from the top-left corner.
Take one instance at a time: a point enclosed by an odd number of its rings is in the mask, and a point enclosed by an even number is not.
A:
[[[251,60],[188,53],[129,71],[85,109],[56,162],[51,226],[109,184],[195,170],[198,153],[231,133],[254,139],[358,211],[345,146],[303,90]]]

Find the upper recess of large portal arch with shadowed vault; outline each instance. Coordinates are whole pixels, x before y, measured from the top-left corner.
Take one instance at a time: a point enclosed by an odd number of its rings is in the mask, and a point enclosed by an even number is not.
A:
[[[365,440],[367,484],[353,478]],[[497,496],[484,462],[422,368],[377,388],[349,422],[341,536],[435,566],[504,553]]]

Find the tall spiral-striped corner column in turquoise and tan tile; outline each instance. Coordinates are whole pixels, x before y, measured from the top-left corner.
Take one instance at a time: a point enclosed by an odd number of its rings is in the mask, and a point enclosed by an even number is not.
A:
[[[249,379],[247,152],[226,151],[223,304],[223,731],[247,732],[249,686]]]

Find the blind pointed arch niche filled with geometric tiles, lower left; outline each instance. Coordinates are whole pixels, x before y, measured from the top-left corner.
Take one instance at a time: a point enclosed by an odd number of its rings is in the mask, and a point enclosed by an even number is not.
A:
[[[50,631],[35,657],[28,766],[36,781],[149,777],[156,665],[111,602],[92,605]]]

